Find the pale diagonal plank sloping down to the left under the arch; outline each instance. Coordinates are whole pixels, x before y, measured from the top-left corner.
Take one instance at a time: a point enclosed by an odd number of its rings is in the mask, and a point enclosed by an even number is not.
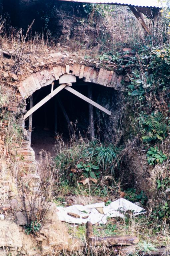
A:
[[[34,113],[39,107],[41,107],[43,104],[45,104],[49,99],[54,97],[59,91],[61,91],[65,87],[66,87],[65,83],[59,85],[59,87],[57,87],[53,92],[51,92],[49,95],[47,95],[44,99],[40,100],[40,102],[38,102],[30,110],[28,110],[27,113],[24,115],[24,119],[26,119],[28,116],[30,116],[32,113]]]

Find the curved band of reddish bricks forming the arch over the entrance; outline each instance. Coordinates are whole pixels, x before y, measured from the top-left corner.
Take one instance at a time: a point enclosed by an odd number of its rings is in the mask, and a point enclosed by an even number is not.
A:
[[[57,65],[53,68],[45,68],[31,74],[24,81],[21,81],[18,90],[23,98],[28,98],[36,90],[51,84],[54,80],[59,80],[64,74],[72,74],[82,78],[85,82],[92,82],[107,87],[113,87],[116,90],[121,90],[122,75],[117,75],[114,71],[107,69],[96,69],[85,65],[74,64],[72,66]]]

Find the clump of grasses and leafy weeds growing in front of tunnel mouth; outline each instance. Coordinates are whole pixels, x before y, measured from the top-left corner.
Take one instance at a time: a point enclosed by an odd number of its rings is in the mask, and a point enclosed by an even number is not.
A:
[[[77,182],[88,177],[95,179],[93,182],[104,189],[102,179],[110,175],[114,179],[114,168],[118,167],[120,153],[121,150],[112,144],[105,145],[98,140],[88,142],[80,138],[70,147],[58,150],[55,168],[62,173],[60,182],[65,189],[67,186],[77,186]]]

